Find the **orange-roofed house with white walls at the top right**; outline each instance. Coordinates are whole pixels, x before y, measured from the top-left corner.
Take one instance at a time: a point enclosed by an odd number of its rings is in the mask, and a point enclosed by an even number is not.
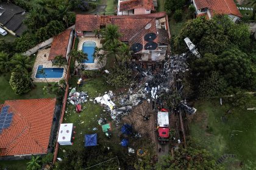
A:
[[[212,18],[215,14],[228,15],[233,22],[242,17],[233,0],[191,0],[197,16]]]

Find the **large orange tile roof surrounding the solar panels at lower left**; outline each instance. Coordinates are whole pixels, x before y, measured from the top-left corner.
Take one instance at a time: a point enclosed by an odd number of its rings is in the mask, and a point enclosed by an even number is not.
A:
[[[47,153],[55,102],[55,98],[5,101],[13,118],[0,134],[0,156]]]

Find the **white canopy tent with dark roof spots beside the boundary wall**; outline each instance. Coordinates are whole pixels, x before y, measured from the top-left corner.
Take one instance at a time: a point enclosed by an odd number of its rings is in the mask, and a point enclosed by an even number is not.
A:
[[[58,142],[60,145],[72,145],[71,138],[73,132],[73,123],[60,124]]]

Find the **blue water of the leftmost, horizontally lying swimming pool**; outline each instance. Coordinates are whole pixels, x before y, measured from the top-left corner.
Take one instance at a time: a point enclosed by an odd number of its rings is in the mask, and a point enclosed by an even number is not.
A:
[[[40,74],[40,70],[44,70],[44,73],[46,75],[43,76],[43,74]],[[43,68],[43,66],[38,66],[37,68],[37,74],[35,75],[35,78],[62,78],[63,75],[63,68]]]

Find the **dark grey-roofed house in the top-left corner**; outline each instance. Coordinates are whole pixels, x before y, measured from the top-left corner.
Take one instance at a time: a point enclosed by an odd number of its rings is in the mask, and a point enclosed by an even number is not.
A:
[[[12,35],[21,36],[27,30],[23,21],[26,17],[26,12],[21,7],[7,3],[0,3],[0,25]]]

